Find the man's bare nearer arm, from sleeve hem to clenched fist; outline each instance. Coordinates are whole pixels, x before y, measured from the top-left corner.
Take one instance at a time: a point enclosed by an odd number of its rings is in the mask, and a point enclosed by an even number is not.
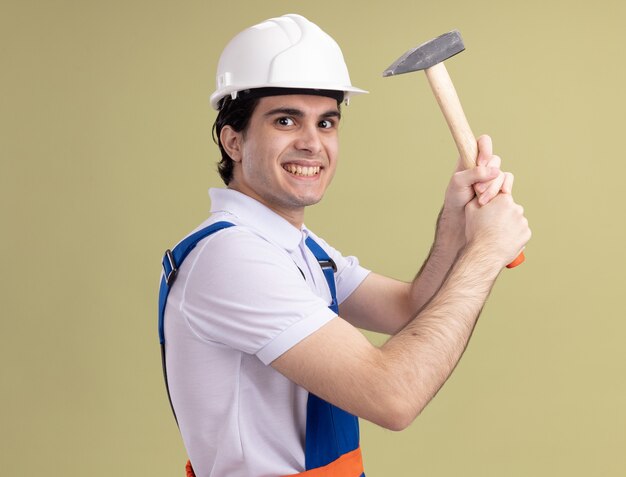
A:
[[[272,366],[329,402],[383,427],[408,426],[460,359],[500,270],[530,238],[508,194],[465,209],[466,245],[438,292],[382,347],[337,318]]]

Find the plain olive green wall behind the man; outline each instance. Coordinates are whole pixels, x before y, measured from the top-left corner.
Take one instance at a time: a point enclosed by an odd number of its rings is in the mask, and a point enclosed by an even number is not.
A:
[[[298,12],[343,48],[342,163],[307,224],[381,273],[425,257],[456,152],[425,78],[381,78],[458,28],[448,68],[516,174],[534,237],[454,376],[368,477],[626,475],[624,2],[3,1],[2,475],[183,475],[156,336],[162,251],[220,184],[222,47]],[[380,337],[372,337],[380,340]]]

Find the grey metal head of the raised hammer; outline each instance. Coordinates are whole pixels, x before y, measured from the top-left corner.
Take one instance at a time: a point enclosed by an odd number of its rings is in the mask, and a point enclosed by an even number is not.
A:
[[[427,41],[423,45],[407,51],[398,58],[389,68],[383,71],[383,76],[393,76],[411,71],[425,70],[437,63],[461,53],[465,49],[463,38],[458,30],[444,33],[437,38]]]

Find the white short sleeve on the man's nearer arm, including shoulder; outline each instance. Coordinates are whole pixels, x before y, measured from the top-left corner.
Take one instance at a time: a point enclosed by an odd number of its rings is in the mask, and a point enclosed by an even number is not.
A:
[[[269,364],[336,315],[316,296],[289,254],[232,227],[192,252],[181,310],[201,339]]]

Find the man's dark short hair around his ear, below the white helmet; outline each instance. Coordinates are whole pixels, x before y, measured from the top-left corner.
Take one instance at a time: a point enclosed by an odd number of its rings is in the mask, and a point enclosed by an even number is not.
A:
[[[235,132],[245,132],[258,103],[258,97],[231,99],[230,96],[225,97],[220,103],[220,110],[217,113],[215,123],[213,123],[213,141],[218,145],[222,153],[222,159],[217,164],[217,172],[219,172],[220,177],[226,185],[228,185],[233,178],[235,161],[228,155],[222,145],[220,139],[222,128],[224,126],[230,126]]]

